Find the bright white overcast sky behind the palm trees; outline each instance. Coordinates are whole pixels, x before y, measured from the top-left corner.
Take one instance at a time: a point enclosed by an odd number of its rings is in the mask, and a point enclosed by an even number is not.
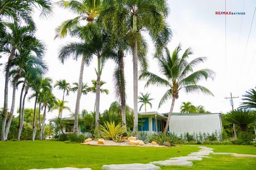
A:
[[[172,52],[175,47],[181,43],[182,52],[186,48],[191,47],[194,55],[190,56],[190,60],[196,57],[207,57],[205,63],[198,65],[197,69],[209,68],[215,71],[214,80],[199,82],[209,88],[214,96],[206,96],[203,94],[186,94],[180,91],[179,98],[175,103],[174,112],[179,112],[182,102],[190,101],[193,105],[203,105],[207,111],[212,113],[226,113],[230,111],[230,101],[225,97],[239,96],[234,99],[234,108],[241,103],[242,95],[245,91],[256,86],[256,16],[252,23],[254,9],[256,7],[255,0],[227,0],[226,9],[231,12],[245,12],[245,15],[227,15],[226,16],[226,38],[225,38],[225,15],[215,15],[216,11],[225,11],[225,1],[203,1],[203,0],[170,0],[168,1],[170,14],[166,21],[172,29],[173,37],[167,47]],[[58,6],[54,7],[54,14],[48,19],[39,18],[39,12],[35,11],[34,20],[37,25],[36,36],[41,39],[46,47],[45,61],[49,66],[46,77],[52,78],[53,82],[66,79],[69,83],[78,82],[79,67],[81,58],[73,61],[71,58],[64,64],[58,61],[58,50],[61,45],[65,45],[77,39],[66,37],[63,39],[55,39],[55,31],[61,22],[74,18],[76,15]],[[252,23],[252,27],[251,27]],[[251,32],[249,36],[249,31]],[[154,56],[154,45],[151,43],[147,32],[143,32],[143,36],[148,43],[148,61],[149,71],[158,75],[157,60]],[[226,43],[225,43],[226,40]],[[226,44],[226,48],[225,48]],[[226,50],[225,50],[226,49]],[[226,54],[226,55],[225,55]],[[125,54],[125,77],[126,77],[126,94],[127,104],[133,108],[133,67],[132,55]],[[0,63],[7,61],[6,57],[0,59]],[[94,68],[97,66],[96,57],[90,64],[85,67],[83,82],[91,86],[91,80],[96,79]],[[110,104],[116,100],[114,95],[113,71],[115,64],[107,61],[103,67],[101,79],[107,83],[102,86],[109,90],[109,95],[102,94],[100,96],[100,112],[108,109]],[[3,106],[4,99],[4,72],[3,66],[0,67],[0,106]],[[145,88],[145,81],[139,81],[139,92],[148,92],[154,100],[152,108],[147,106],[147,111],[157,111],[159,113],[169,112],[171,100],[167,101],[161,108],[158,108],[159,100],[162,98],[165,87],[150,86]],[[14,115],[17,115],[19,105],[19,95],[21,86],[18,88]],[[53,89],[54,95],[61,99],[62,91]],[[31,91],[29,92],[31,95]],[[9,108],[11,106],[12,90],[9,90]],[[65,97],[68,101],[66,104],[70,107],[71,112],[75,111],[76,94],[70,92]],[[95,94],[89,93],[82,96],[80,111],[86,109],[93,111]],[[34,101],[27,101],[25,107],[33,108]],[[140,105],[139,105],[140,106]],[[63,111],[63,117],[69,116],[68,111]],[[46,118],[58,116],[58,111],[49,112]]]

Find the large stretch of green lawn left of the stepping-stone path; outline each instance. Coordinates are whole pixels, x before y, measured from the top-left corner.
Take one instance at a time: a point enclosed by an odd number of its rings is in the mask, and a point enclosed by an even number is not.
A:
[[[106,164],[149,163],[155,160],[186,156],[198,148],[103,147],[58,141],[0,142],[0,169],[49,167],[90,167]]]

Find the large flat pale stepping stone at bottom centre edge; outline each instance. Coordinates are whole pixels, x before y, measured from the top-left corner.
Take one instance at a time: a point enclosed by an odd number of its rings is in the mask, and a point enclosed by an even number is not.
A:
[[[158,170],[161,169],[159,166],[153,164],[113,164],[103,165],[102,169],[107,170]]]

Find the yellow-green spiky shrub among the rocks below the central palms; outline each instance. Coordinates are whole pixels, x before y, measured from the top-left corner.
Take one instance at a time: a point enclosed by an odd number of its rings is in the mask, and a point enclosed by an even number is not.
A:
[[[114,122],[105,122],[105,126],[100,125],[100,135],[103,139],[113,140],[115,142],[123,142],[126,137],[123,135],[126,132],[126,129],[122,126],[121,123],[115,125]]]

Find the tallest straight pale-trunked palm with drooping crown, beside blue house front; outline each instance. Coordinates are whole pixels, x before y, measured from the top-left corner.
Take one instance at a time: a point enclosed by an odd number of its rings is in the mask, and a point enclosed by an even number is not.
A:
[[[134,130],[138,129],[138,50],[143,40],[141,32],[146,30],[153,39],[156,47],[156,54],[159,55],[163,46],[169,41],[170,29],[165,24],[168,14],[166,1],[119,1],[105,0],[102,2],[106,6],[104,12],[111,13],[115,21],[113,30],[116,38],[124,38],[125,30],[131,28],[129,35],[129,45],[133,55],[133,104],[134,104]],[[110,15],[109,15],[110,16]],[[154,16],[154,17],[152,17]],[[122,18],[122,20],[120,20]],[[109,18],[110,19],[110,18]]]

